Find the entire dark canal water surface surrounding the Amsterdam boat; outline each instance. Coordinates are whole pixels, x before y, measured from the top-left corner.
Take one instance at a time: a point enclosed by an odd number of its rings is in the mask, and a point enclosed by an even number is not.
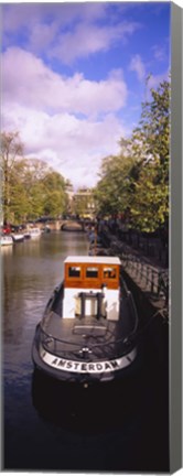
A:
[[[2,249],[3,469],[168,472],[168,386],[152,356],[105,388],[65,388],[33,371],[35,326],[63,261],[87,252],[85,234],[65,231]]]

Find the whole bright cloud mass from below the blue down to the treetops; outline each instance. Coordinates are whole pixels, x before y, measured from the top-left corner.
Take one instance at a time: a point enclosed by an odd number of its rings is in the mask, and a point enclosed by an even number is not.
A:
[[[75,186],[93,186],[100,161],[126,133],[115,113],[126,104],[121,71],[101,82],[62,77],[21,48],[2,61],[2,128],[18,130],[25,155],[45,160]]]

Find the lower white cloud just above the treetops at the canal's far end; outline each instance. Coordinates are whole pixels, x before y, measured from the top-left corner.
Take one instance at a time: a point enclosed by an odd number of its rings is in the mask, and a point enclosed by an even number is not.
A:
[[[19,130],[26,158],[47,162],[75,187],[94,186],[101,160],[119,152],[118,140],[126,134],[112,115],[103,120],[78,119],[63,112],[46,112],[13,105],[2,117],[3,129]]]

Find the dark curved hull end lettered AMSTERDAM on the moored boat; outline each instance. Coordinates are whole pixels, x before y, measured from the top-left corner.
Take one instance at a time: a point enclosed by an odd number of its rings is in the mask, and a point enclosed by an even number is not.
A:
[[[86,361],[63,359],[45,353],[41,346],[41,327],[36,327],[32,346],[34,368],[44,375],[65,382],[95,385],[111,382],[137,371],[140,365],[139,346],[134,345],[118,358]],[[43,357],[44,356],[44,357]],[[45,359],[44,359],[45,358]]]

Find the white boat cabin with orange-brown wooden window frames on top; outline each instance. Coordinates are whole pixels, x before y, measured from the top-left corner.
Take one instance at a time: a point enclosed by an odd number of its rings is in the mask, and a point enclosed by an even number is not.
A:
[[[116,257],[67,257],[64,261],[63,317],[118,321],[120,264]]]

